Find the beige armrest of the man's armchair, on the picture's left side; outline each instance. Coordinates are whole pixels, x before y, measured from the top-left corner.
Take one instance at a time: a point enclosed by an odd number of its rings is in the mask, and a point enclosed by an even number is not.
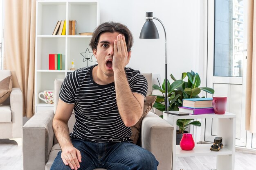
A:
[[[53,110],[39,111],[22,127],[24,170],[45,170],[53,146]]]

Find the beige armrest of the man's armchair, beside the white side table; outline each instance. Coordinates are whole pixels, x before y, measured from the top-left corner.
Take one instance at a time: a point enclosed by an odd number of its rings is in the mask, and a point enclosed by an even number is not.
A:
[[[141,123],[141,147],[153,153],[159,161],[157,169],[170,170],[173,159],[173,126],[149,112]]]

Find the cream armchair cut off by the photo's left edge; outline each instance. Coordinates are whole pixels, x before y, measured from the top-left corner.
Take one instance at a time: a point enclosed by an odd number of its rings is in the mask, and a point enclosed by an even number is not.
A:
[[[10,75],[10,70],[0,70],[0,81]],[[0,139],[20,138],[21,141],[22,102],[20,88],[12,88],[10,96],[0,105]]]

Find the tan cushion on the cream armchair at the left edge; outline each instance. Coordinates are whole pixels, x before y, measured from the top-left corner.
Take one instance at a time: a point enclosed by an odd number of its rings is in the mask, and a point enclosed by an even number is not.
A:
[[[8,76],[0,81],[0,104],[4,102],[11,94],[12,77]]]

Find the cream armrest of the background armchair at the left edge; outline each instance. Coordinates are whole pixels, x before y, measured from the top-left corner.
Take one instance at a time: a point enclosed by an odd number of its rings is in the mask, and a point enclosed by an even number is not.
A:
[[[13,88],[10,94],[12,138],[21,137],[23,117],[23,96],[20,88]]]

